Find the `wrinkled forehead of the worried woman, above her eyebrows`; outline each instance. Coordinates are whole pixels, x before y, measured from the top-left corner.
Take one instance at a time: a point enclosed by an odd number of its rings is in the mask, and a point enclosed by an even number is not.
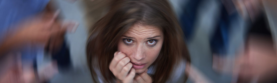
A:
[[[156,26],[135,24],[134,26],[130,27],[124,35],[136,37],[156,35],[163,36],[163,33],[161,32],[160,28]]]

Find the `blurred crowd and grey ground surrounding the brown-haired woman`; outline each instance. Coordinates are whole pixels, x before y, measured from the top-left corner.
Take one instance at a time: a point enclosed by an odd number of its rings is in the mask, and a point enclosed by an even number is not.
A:
[[[276,0],[169,1],[191,56],[187,83],[277,82]],[[108,2],[0,0],[0,83],[92,83],[88,30]]]

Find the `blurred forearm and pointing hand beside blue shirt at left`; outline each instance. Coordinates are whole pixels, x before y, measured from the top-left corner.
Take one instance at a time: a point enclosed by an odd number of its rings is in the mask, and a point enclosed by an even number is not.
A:
[[[63,43],[65,32],[74,33],[79,25],[74,21],[58,21],[58,14],[59,12],[43,12],[15,26],[19,27],[18,30],[8,32],[7,37],[0,44],[0,56],[26,44],[42,45],[50,53],[58,51]]]

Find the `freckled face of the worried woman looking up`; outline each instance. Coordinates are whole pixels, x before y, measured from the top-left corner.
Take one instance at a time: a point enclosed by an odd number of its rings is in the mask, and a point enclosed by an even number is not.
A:
[[[158,27],[136,24],[119,40],[118,51],[125,53],[136,73],[144,72],[158,57],[163,33]]]

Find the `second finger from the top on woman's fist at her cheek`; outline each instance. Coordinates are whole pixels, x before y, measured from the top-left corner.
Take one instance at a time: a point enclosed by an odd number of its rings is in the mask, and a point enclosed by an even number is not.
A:
[[[122,68],[130,62],[129,57],[125,57],[121,59],[118,64],[116,65],[115,72],[121,72]]]

